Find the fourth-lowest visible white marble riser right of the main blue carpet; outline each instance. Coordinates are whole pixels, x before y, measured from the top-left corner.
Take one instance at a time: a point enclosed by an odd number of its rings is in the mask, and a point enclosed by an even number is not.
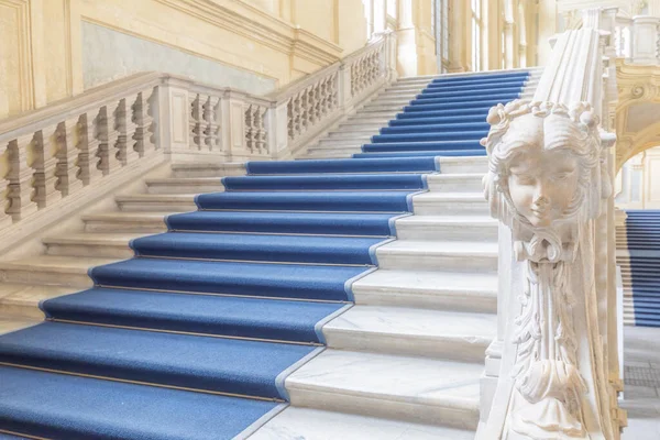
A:
[[[457,255],[452,253],[428,255],[399,253],[381,248],[376,251],[380,268],[410,271],[496,272],[497,256]]]

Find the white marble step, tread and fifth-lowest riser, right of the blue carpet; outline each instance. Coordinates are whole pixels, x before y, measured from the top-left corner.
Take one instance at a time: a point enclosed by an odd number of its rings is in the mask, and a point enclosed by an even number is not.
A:
[[[497,220],[487,216],[409,216],[396,220],[399,240],[497,241]]]

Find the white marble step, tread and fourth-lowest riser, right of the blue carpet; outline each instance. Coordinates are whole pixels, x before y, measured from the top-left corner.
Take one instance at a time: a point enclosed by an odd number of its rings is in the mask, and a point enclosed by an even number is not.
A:
[[[396,240],[376,249],[383,270],[497,271],[497,243]]]

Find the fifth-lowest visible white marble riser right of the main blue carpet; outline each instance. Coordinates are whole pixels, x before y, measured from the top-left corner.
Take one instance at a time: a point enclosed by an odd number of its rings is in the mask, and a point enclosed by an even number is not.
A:
[[[497,241],[497,224],[396,226],[399,240]]]

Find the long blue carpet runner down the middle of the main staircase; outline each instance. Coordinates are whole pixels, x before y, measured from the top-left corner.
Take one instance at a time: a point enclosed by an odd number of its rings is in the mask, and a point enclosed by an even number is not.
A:
[[[256,162],[197,196],[95,287],[44,301],[0,337],[0,435],[232,439],[287,402],[284,381],[322,350],[322,326],[377,266],[436,156],[484,155],[488,108],[527,73],[432,80],[348,160]],[[15,437],[18,436],[18,437]]]

